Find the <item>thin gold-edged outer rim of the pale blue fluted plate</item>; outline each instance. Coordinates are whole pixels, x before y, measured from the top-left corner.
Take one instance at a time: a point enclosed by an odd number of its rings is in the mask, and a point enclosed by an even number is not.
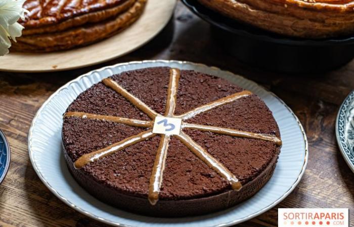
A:
[[[190,64],[190,65],[194,65],[194,66],[202,66],[202,67],[207,67],[207,68],[212,68],[212,69],[215,69],[217,71],[222,71],[222,72],[225,72],[225,73],[229,73],[229,74],[232,74],[232,75],[235,75],[234,73],[230,72],[230,71],[227,71],[227,70],[221,70],[219,69],[218,67],[214,67],[214,66],[207,66],[205,64],[201,64],[201,63],[193,63],[193,62],[189,62],[189,61],[175,61],[175,60],[144,60],[144,61],[132,61],[132,62],[125,62],[125,63],[118,63],[118,64],[115,64],[115,65],[111,65],[111,66],[105,66],[105,67],[102,67],[100,69],[96,69],[96,70],[92,70],[88,73],[85,73],[85,74],[82,74],[80,76],[78,76],[77,78],[67,82],[66,84],[64,84],[63,86],[61,86],[58,90],[56,90],[51,96],[48,97],[48,99],[42,103],[42,105],[40,106],[40,108],[37,110],[33,120],[32,120],[32,123],[31,123],[31,126],[29,128],[29,132],[28,132],[28,155],[30,157],[30,161],[31,161],[31,164],[33,166],[33,169],[35,171],[35,173],[37,174],[37,176],[39,177],[39,179],[41,180],[41,182],[43,184],[46,185],[46,187],[57,197],[59,198],[61,201],[63,201],[65,204],[67,204],[68,206],[72,207],[73,209],[75,209],[76,211],[78,211],[79,213],[82,213],[86,216],[89,216],[93,219],[96,219],[98,221],[101,221],[101,222],[104,222],[106,224],[111,224],[111,225],[115,225],[115,226],[122,226],[122,227],[135,227],[133,225],[127,225],[127,224],[121,224],[121,223],[118,223],[118,222],[113,222],[113,221],[110,221],[110,220],[107,220],[105,218],[102,218],[102,217],[99,217],[93,213],[90,213],[89,211],[86,211],[78,206],[76,206],[74,203],[70,202],[69,200],[67,200],[65,197],[63,197],[61,194],[59,194],[47,181],[46,179],[42,176],[42,174],[40,173],[35,161],[34,161],[34,158],[32,157],[32,154],[33,152],[31,151],[31,137],[32,137],[32,130],[34,128],[34,123],[35,123],[35,120],[39,117],[40,115],[40,112],[41,110],[51,101],[51,99],[53,99],[56,95],[58,95],[58,93],[65,89],[66,87],[68,87],[71,83],[75,83],[79,80],[81,80],[81,78],[83,77],[86,77],[86,76],[89,76],[95,72],[101,72],[101,71],[104,71],[106,69],[110,69],[110,68],[115,68],[115,67],[121,67],[121,66],[124,66],[124,65],[129,65],[129,64],[144,64],[144,63],[165,63],[165,64],[168,64],[168,63],[175,63],[175,64]],[[240,76],[240,75],[237,75],[237,76]],[[273,92],[269,91],[268,89],[264,88],[263,86],[257,84],[256,82],[254,81],[251,81],[243,76],[240,76],[242,77],[244,80],[252,83],[252,84],[255,84],[259,87],[262,87],[263,89],[267,90],[267,92],[271,93],[275,98],[277,98],[281,104],[283,104],[288,110],[289,112],[291,113],[292,117],[295,119],[297,125],[299,126],[299,129],[301,131],[301,134],[303,136],[303,140],[304,140],[304,143],[305,143],[305,147],[304,147],[304,151],[305,151],[305,156],[304,156],[304,162],[302,164],[302,167],[301,167],[301,171],[296,179],[296,181],[292,184],[292,186],[281,196],[279,197],[277,200],[275,200],[273,203],[271,203],[269,206],[267,207],[264,207],[263,209],[261,210],[258,210],[257,212],[255,213],[252,213],[242,219],[238,219],[238,220],[234,220],[234,221],[229,221],[229,222],[225,222],[225,223],[220,223],[220,224],[216,224],[216,225],[211,225],[210,227],[222,227],[222,226],[230,226],[230,225],[234,225],[234,224],[237,224],[237,223],[241,223],[241,222],[244,222],[246,220],[249,220],[255,216],[258,216],[268,210],[270,210],[271,208],[273,208],[275,205],[277,205],[278,203],[280,203],[283,199],[285,199],[294,189],[295,187],[299,184],[304,172],[305,172],[305,169],[306,169],[306,165],[307,165],[307,160],[308,160],[308,142],[307,142],[307,137],[306,137],[306,134],[305,134],[305,131],[299,121],[299,119],[297,118],[297,116],[295,115],[295,113],[291,110],[291,108],[285,104],[285,102],[280,99],[276,94],[274,94]]]

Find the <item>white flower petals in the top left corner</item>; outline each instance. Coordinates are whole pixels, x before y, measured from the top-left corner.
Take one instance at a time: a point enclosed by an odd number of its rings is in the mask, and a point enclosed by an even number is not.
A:
[[[16,42],[16,37],[21,36],[22,25],[17,23],[24,13],[28,12],[22,8],[25,0],[0,0],[0,56],[9,52],[11,41]]]

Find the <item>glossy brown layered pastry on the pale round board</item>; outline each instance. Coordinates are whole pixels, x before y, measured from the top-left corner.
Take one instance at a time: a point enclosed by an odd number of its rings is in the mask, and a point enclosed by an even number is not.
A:
[[[147,0],[27,0],[23,35],[12,49],[48,52],[87,45],[134,23]]]

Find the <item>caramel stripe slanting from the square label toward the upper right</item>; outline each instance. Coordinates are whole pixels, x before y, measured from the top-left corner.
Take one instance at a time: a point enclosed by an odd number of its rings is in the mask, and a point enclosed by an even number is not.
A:
[[[194,116],[198,115],[199,113],[207,112],[207,111],[209,111],[212,108],[215,108],[215,107],[220,106],[220,105],[228,104],[228,103],[233,102],[233,101],[235,101],[235,100],[237,100],[239,98],[246,97],[246,96],[249,96],[251,94],[252,94],[252,92],[244,90],[244,91],[241,91],[241,92],[226,96],[224,98],[220,98],[218,100],[209,102],[208,104],[199,106],[199,107],[197,107],[195,109],[192,109],[192,110],[190,110],[190,111],[188,111],[186,113],[183,113],[182,115],[175,116],[175,117],[176,118],[182,118],[182,120],[187,120],[187,119],[193,118]]]

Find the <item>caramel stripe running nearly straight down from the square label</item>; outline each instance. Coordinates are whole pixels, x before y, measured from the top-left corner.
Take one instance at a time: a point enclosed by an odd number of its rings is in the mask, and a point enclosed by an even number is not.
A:
[[[163,171],[168,150],[169,136],[161,135],[160,145],[156,152],[154,166],[150,177],[148,199],[151,205],[155,205],[159,199],[160,188],[162,184]]]

